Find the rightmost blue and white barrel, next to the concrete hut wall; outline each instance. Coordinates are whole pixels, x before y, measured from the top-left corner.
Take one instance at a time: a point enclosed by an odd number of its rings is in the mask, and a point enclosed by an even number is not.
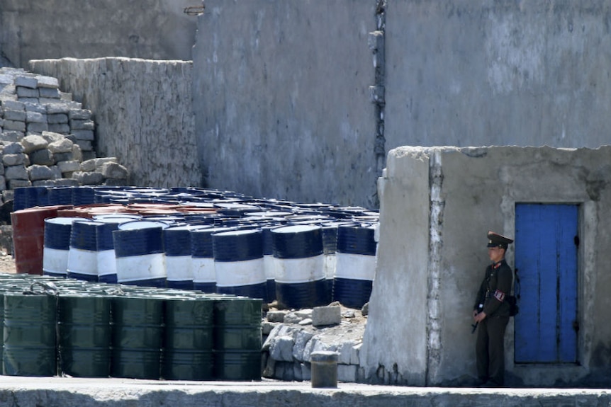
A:
[[[376,275],[374,224],[347,224],[337,228],[333,299],[350,308],[369,302]]]

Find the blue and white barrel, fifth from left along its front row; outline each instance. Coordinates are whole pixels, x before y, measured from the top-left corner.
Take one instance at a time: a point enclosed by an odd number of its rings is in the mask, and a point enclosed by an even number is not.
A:
[[[191,230],[211,225],[181,224],[163,229],[167,287],[193,290],[193,264],[191,261]]]

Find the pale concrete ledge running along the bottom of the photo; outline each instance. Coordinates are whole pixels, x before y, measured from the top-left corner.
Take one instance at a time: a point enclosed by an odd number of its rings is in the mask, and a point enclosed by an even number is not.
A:
[[[456,389],[310,382],[160,382],[66,377],[0,377],[0,406],[606,406],[602,389]]]

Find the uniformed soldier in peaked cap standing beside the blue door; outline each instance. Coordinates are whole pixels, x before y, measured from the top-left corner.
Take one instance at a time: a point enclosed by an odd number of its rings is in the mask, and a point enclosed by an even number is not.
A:
[[[500,387],[505,382],[505,328],[509,322],[513,272],[505,261],[505,251],[513,240],[488,231],[488,256],[492,261],[473,305],[473,321],[478,326],[476,364],[479,385]]]

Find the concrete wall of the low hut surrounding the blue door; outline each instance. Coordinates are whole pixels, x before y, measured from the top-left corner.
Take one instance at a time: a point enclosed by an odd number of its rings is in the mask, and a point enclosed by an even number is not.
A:
[[[489,262],[486,232],[515,236],[516,202],[542,202],[579,204],[581,211],[579,363],[514,365],[511,319],[508,382],[607,382],[611,228],[602,219],[611,216],[610,162],[611,147],[393,149],[380,180],[376,284],[361,348],[370,377],[393,365],[405,384],[464,385],[476,377],[471,307]],[[507,259],[513,268],[512,245]]]

